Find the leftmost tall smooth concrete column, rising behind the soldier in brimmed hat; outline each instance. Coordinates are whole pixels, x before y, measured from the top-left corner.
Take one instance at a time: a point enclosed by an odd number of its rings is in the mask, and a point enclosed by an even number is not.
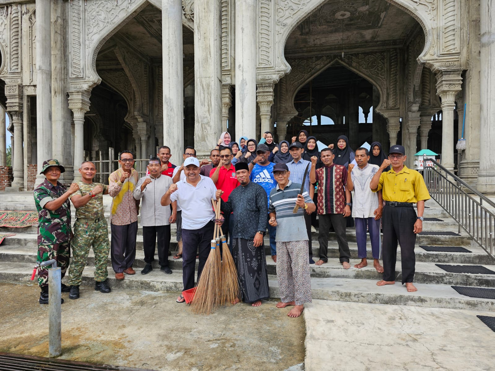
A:
[[[36,0],[36,71],[38,169],[42,169],[43,161],[52,157],[51,1]],[[59,160],[61,161],[61,159]],[[38,174],[35,186],[42,183],[44,179],[43,174]]]

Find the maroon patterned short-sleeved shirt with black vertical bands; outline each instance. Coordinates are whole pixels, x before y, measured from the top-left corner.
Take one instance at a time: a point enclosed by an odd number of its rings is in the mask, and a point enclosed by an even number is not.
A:
[[[332,164],[316,169],[318,182],[317,211],[322,214],[344,214],[346,207],[347,170],[342,165]]]

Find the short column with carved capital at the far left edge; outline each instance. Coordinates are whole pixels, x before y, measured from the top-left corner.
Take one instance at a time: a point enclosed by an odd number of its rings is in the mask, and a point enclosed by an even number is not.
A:
[[[22,147],[22,86],[6,85],[5,95],[7,97],[7,111],[12,118],[11,126],[14,128],[11,152],[11,163],[14,180],[12,182],[11,189],[20,190],[24,187],[24,149]],[[3,114],[3,117],[5,117],[5,113]],[[5,125],[3,125],[3,128],[5,128]],[[9,130],[11,130],[10,127]]]

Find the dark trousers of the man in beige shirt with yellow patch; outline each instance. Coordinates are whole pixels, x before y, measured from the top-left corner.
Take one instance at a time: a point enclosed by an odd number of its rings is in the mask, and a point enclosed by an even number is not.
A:
[[[110,223],[112,239],[110,241],[110,257],[115,273],[122,273],[132,267],[136,258],[136,235],[138,222],[125,226],[115,226]]]

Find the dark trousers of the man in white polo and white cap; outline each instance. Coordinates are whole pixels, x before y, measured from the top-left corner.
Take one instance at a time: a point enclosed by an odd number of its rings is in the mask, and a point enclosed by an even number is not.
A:
[[[208,259],[215,224],[208,222],[198,230],[182,230],[182,282],[184,290],[194,287],[196,252],[199,249],[198,280]]]

